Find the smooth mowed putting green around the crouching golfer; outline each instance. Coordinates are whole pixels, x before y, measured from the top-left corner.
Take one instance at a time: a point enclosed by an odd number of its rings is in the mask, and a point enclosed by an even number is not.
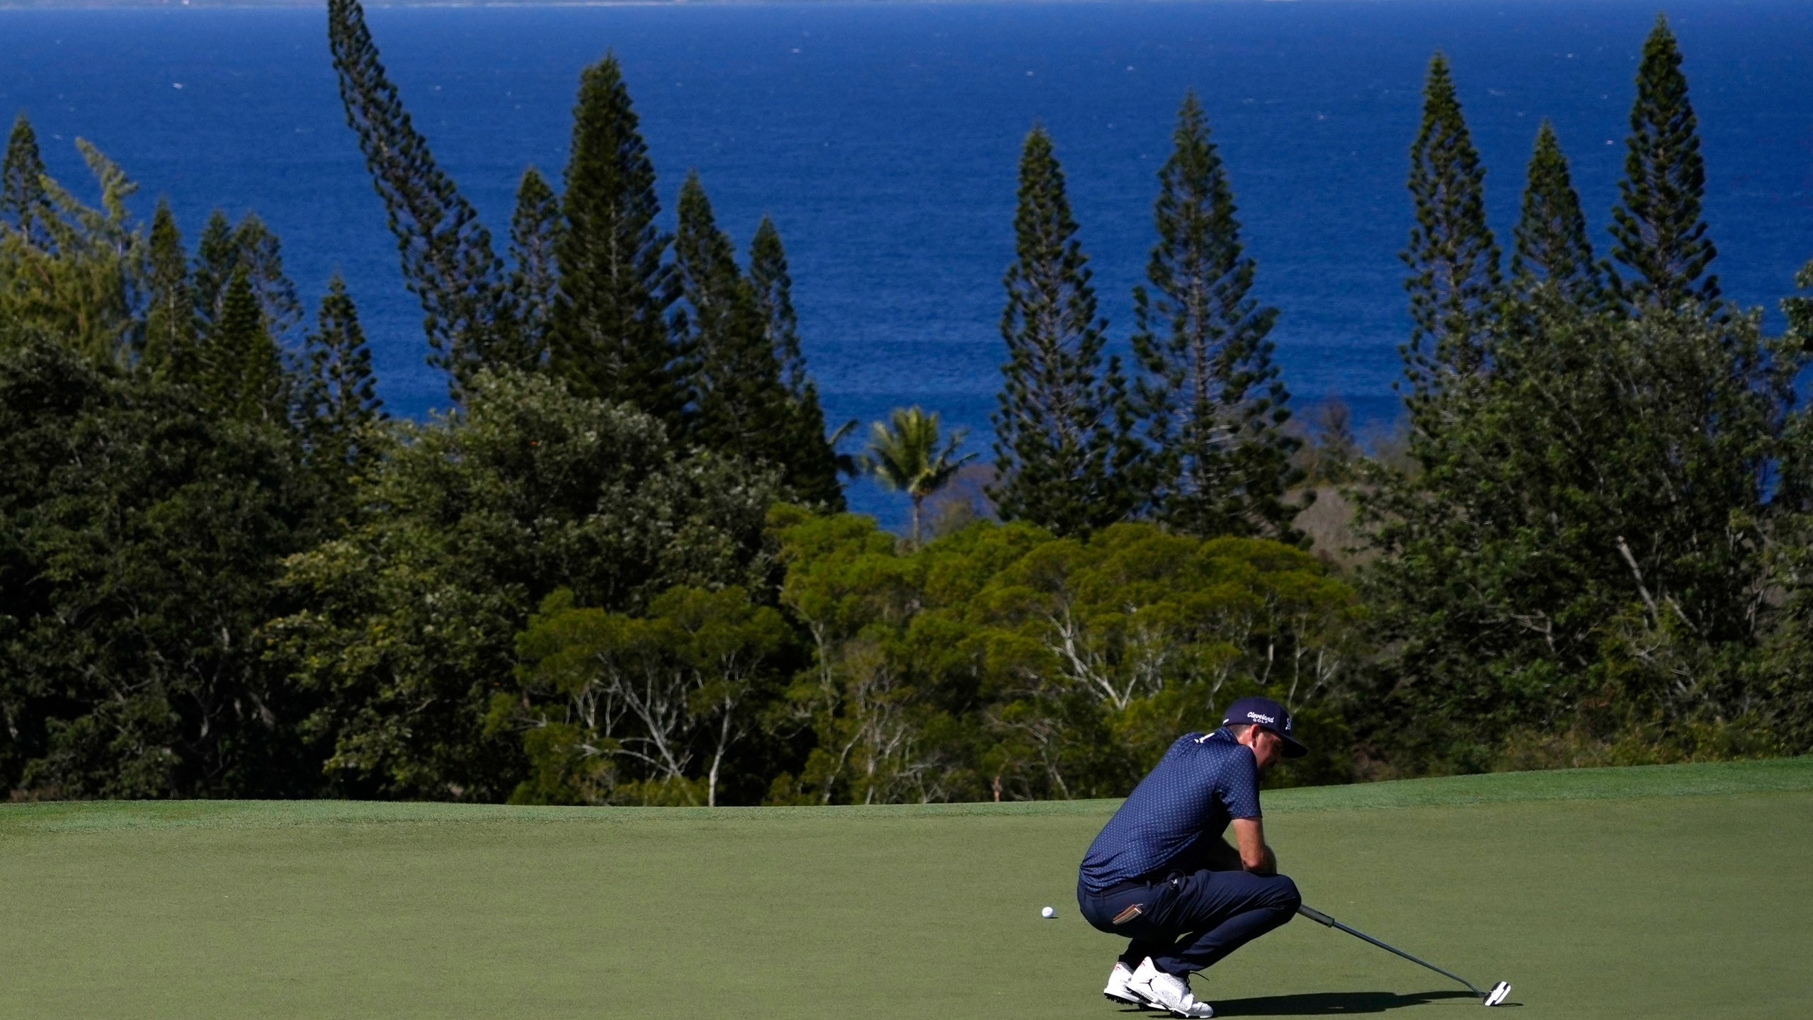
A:
[[[1099,1018],[1075,906],[1113,802],[0,808],[0,1016]],[[1813,1016],[1813,759],[1265,795],[1309,904],[1512,1016]],[[1039,907],[1057,907],[1041,920]],[[1222,1016],[1470,1016],[1305,920]]]

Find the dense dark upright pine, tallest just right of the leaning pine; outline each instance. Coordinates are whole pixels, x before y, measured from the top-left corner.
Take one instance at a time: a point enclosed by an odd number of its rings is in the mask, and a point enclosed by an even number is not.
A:
[[[662,263],[669,238],[654,227],[654,163],[615,56],[580,74],[560,207],[555,370],[580,392],[635,405],[680,436],[687,394],[684,352],[665,329],[674,301]]]

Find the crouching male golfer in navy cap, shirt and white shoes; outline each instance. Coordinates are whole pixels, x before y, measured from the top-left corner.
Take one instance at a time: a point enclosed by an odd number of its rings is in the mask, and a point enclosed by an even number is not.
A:
[[[1186,733],[1140,780],[1090,844],[1077,880],[1082,917],[1129,940],[1102,995],[1215,1016],[1191,995],[1191,971],[1291,920],[1304,902],[1265,846],[1258,777],[1305,751],[1284,706],[1244,697],[1220,730]],[[1222,839],[1229,822],[1240,849]]]

